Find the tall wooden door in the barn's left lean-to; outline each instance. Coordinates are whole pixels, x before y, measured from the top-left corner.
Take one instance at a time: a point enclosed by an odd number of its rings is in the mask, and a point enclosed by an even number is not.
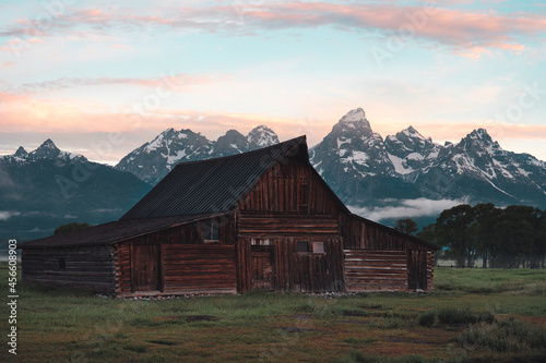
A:
[[[132,290],[159,290],[159,246],[133,245],[132,249]]]

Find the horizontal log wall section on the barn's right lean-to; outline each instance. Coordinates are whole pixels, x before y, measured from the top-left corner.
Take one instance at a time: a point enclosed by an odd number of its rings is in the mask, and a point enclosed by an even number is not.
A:
[[[406,251],[344,250],[348,292],[407,290]]]

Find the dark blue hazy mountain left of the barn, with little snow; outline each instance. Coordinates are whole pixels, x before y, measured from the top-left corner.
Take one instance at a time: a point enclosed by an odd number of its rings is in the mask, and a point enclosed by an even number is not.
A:
[[[118,219],[152,185],[130,172],[61,152],[51,140],[0,157],[0,239],[32,240],[70,222]]]

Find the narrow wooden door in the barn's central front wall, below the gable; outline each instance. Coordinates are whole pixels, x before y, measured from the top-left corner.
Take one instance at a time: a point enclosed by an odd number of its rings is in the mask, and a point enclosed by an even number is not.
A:
[[[250,246],[250,288],[272,291],[273,286],[273,246]]]

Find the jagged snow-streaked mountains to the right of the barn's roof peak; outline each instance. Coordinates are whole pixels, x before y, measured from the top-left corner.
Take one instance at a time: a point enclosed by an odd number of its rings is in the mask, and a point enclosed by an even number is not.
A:
[[[349,205],[425,197],[546,207],[546,164],[503,150],[484,129],[456,145],[436,144],[413,126],[383,142],[358,108],[310,149],[310,159]]]

